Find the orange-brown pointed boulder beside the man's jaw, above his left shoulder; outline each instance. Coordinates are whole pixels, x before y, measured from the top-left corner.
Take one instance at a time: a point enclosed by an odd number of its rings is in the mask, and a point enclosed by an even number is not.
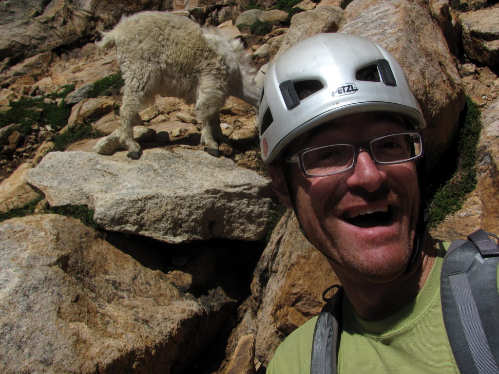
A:
[[[263,365],[284,337],[320,312],[322,292],[338,283],[326,257],[305,239],[293,212],[287,210],[251,284],[254,304],[249,313],[256,314],[256,357]]]

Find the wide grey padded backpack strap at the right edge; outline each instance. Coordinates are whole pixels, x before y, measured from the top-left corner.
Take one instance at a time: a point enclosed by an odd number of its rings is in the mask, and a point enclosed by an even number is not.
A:
[[[484,230],[468,239],[453,242],[444,258],[444,324],[461,373],[499,374],[499,247]]]

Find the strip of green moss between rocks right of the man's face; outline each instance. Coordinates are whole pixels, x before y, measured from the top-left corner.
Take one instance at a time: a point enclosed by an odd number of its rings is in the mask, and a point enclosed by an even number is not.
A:
[[[475,189],[476,150],[481,129],[480,111],[473,100],[467,97],[464,120],[459,131],[456,171],[449,180],[434,188],[435,192],[429,201],[431,225],[436,225],[447,215],[461,209],[467,194]]]

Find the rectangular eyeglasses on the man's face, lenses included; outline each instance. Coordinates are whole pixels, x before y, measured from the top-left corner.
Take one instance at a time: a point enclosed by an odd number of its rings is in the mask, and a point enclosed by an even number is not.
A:
[[[380,136],[364,142],[311,147],[285,157],[308,177],[324,177],[353,169],[360,151],[367,151],[377,165],[401,164],[423,156],[423,138],[417,131]]]

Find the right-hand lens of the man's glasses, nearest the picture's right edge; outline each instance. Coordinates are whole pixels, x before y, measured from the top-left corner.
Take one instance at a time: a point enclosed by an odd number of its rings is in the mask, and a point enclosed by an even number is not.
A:
[[[382,163],[410,160],[421,155],[421,137],[417,133],[387,135],[374,139],[371,151]]]

